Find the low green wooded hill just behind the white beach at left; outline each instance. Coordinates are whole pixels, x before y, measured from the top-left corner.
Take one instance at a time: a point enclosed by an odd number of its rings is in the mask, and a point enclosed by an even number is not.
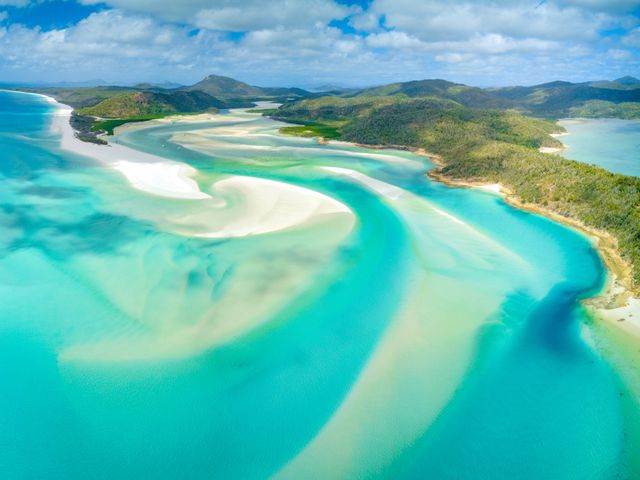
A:
[[[102,118],[130,118],[202,112],[225,107],[226,104],[221,100],[200,91],[170,93],[144,91],[121,93],[97,105],[82,108],[78,113]]]

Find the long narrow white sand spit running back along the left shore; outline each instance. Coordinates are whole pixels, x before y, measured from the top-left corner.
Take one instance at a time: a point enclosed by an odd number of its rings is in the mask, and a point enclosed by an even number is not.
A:
[[[210,198],[200,191],[191,178],[197,172],[189,165],[173,162],[148,153],[139,152],[122,145],[97,145],[76,138],[69,124],[73,109],[42,95],[58,108],[54,113],[52,129],[62,135],[61,147],[67,151],[93,158],[122,173],[129,183],[146,193],[170,198]]]

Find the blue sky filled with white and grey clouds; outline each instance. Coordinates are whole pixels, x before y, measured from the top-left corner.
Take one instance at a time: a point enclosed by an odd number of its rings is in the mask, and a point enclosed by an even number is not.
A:
[[[0,83],[640,77],[640,0],[0,0]]]

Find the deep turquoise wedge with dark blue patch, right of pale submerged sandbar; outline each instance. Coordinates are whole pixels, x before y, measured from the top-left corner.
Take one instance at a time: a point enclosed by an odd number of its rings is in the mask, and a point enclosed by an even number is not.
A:
[[[552,288],[511,339],[502,339],[504,348],[470,370],[466,387],[398,463],[399,478],[619,473],[618,392],[608,364],[580,337],[580,293],[570,283]],[[485,332],[478,358],[489,343],[494,348],[496,339]]]

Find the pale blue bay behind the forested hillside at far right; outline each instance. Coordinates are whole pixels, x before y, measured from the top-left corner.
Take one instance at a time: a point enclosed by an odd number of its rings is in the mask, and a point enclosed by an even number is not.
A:
[[[640,121],[616,118],[561,120],[564,157],[615,173],[640,176]]]

